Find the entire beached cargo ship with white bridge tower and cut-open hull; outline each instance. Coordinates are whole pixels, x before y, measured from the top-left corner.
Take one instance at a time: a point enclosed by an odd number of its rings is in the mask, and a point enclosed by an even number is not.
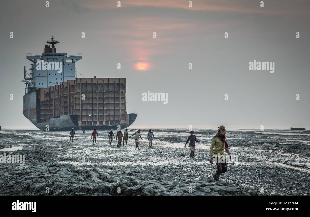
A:
[[[82,54],[57,53],[53,37],[42,55],[27,54],[23,113],[37,128],[109,130],[127,128],[137,114],[126,112],[126,78],[77,78],[75,62]]]

